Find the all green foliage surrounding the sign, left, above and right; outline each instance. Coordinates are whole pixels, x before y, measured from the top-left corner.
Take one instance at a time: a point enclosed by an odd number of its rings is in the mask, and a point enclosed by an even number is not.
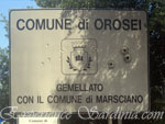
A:
[[[151,109],[165,110],[165,0],[35,0],[41,8],[143,9],[148,14]],[[8,21],[1,15],[0,22]],[[9,48],[0,49],[0,110],[9,105]],[[165,124],[165,121],[139,121]],[[133,123],[135,124],[135,123]]]

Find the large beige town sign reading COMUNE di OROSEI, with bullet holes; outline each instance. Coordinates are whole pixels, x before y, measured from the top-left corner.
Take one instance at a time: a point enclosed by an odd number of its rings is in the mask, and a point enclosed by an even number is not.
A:
[[[144,11],[11,10],[15,111],[148,110]]]

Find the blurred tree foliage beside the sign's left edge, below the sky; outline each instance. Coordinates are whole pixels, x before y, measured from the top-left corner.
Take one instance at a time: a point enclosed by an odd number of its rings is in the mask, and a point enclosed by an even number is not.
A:
[[[0,23],[4,23],[9,37],[9,22],[4,15],[0,14]],[[0,110],[9,105],[9,48],[0,48]]]

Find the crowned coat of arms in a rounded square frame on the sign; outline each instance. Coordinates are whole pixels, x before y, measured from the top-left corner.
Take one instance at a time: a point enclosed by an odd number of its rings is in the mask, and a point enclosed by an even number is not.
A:
[[[64,74],[94,74],[97,71],[96,41],[67,40],[62,45]]]

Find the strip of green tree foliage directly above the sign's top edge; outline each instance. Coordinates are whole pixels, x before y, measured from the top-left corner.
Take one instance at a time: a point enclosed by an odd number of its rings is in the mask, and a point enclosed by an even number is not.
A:
[[[42,8],[141,8],[145,0],[35,0]]]

